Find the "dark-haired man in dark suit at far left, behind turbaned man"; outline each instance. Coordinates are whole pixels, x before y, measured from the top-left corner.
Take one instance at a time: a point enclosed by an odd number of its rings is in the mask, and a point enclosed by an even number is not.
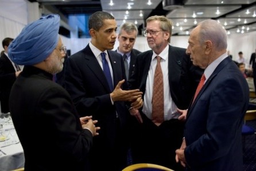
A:
[[[0,102],[1,102],[1,111],[4,116],[9,115],[9,96],[11,91],[11,86],[16,80],[17,76],[21,73],[21,66],[13,63],[9,59],[7,54],[8,46],[10,42],[13,41],[13,38],[6,37],[2,41],[3,55],[0,57]]]

